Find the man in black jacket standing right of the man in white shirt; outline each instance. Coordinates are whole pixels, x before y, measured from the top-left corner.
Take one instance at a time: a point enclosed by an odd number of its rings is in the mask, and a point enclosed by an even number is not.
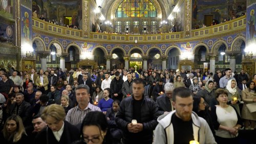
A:
[[[118,71],[115,72],[115,78],[111,80],[110,83],[110,94],[113,100],[118,99],[119,101],[122,100],[122,86],[123,86],[123,79],[120,78],[120,73]]]

